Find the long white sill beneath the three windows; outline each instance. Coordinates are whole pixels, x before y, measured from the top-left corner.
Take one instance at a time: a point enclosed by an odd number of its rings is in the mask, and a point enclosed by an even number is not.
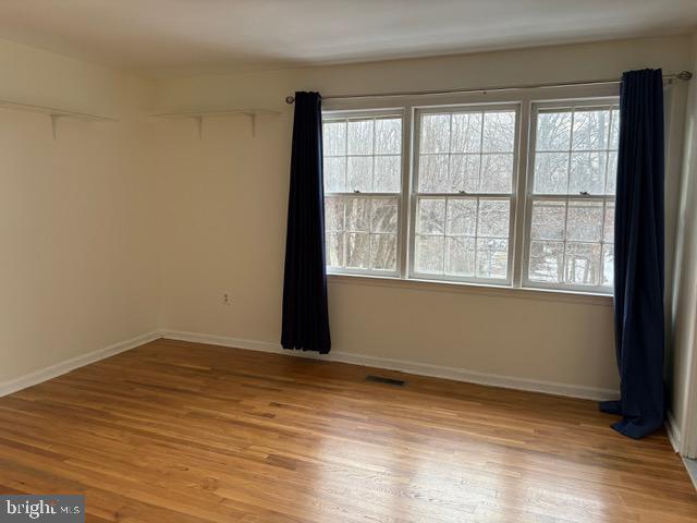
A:
[[[555,289],[516,288],[441,280],[402,279],[387,276],[328,273],[330,284],[391,287],[433,292],[463,292],[496,297],[515,297],[549,302],[587,303],[612,307],[612,295]]]

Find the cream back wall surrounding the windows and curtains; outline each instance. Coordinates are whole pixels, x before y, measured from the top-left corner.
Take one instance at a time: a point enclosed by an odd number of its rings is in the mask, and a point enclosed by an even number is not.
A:
[[[163,327],[278,343],[294,90],[448,89],[690,65],[688,37],[622,40],[382,63],[195,76],[160,83],[161,109],[261,107],[257,123],[152,123],[164,198]],[[685,86],[671,96],[668,193],[680,184]],[[674,209],[675,205],[669,205]],[[672,247],[674,216],[667,230]],[[671,251],[672,252],[672,251]],[[672,267],[669,256],[668,267]],[[233,303],[222,304],[231,292]],[[333,351],[546,380],[603,396],[617,385],[609,299],[330,280]]]

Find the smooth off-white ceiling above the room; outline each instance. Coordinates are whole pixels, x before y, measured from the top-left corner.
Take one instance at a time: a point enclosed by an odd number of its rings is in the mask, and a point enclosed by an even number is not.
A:
[[[0,0],[0,38],[149,75],[680,33],[697,0]]]

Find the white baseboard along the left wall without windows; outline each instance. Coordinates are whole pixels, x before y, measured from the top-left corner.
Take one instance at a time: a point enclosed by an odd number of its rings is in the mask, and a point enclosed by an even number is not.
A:
[[[56,365],[51,365],[33,373],[25,374],[24,376],[20,376],[19,378],[11,379],[9,381],[2,381],[0,382],[0,398],[7,394],[11,394],[12,392],[16,392],[17,390],[26,389],[27,387],[40,384],[41,381],[47,381],[49,379],[56,378],[62,374],[70,373],[75,368],[89,365],[90,363],[98,362],[99,360],[103,360],[109,356],[113,356],[114,354],[119,354],[120,352],[135,349],[138,345],[152,340],[157,340],[159,338],[161,338],[160,332],[148,332],[146,335],[136,336],[135,338],[131,338],[130,340],[113,343],[109,346],[88,352],[87,354],[81,354],[80,356],[75,356],[64,362],[57,363]]]

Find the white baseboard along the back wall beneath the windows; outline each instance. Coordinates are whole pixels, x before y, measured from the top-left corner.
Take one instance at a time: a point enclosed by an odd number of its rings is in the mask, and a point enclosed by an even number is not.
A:
[[[513,376],[480,373],[477,370],[448,367],[443,365],[431,365],[428,363],[411,362],[406,360],[392,360],[387,357],[370,356],[367,354],[354,354],[348,352],[332,351],[329,354],[319,355],[316,353],[308,353],[304,351],[286,351],[281,348],[280,343],[270,343],[268,341],[245,340],[241,338],[203,335],[198,332],[182,332],[176,330],[163,330],[161,332],[161,337],[170,340],[208,343],[212,345],[222,345],[235,349],[272,352],[276,354],[284,354],[288,356],[311,357],[332,362],[351,363],[354,365],[400,370],[403,373],[417,374],[420,376],[453,379],[456,381],[502,387],[505,389],[528,390],[555,396],[583,398],[588,400],[608,400],[614,399],[619,396],[619,390],[614,389],[602,389],[584,385],[517,378]]]

